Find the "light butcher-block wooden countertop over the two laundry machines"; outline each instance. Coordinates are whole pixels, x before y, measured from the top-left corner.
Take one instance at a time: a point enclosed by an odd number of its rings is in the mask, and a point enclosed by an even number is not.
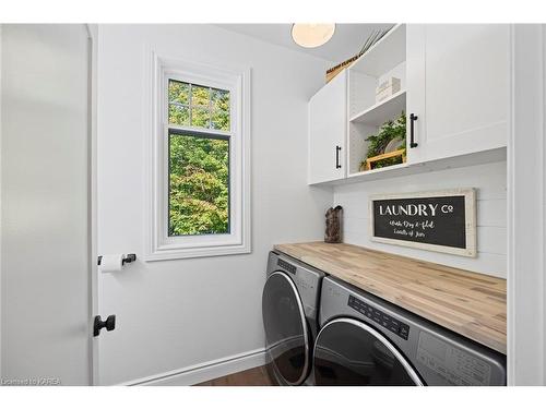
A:
[[[505,279],[351,244],[277,244],[275,250],[507,352]]]

